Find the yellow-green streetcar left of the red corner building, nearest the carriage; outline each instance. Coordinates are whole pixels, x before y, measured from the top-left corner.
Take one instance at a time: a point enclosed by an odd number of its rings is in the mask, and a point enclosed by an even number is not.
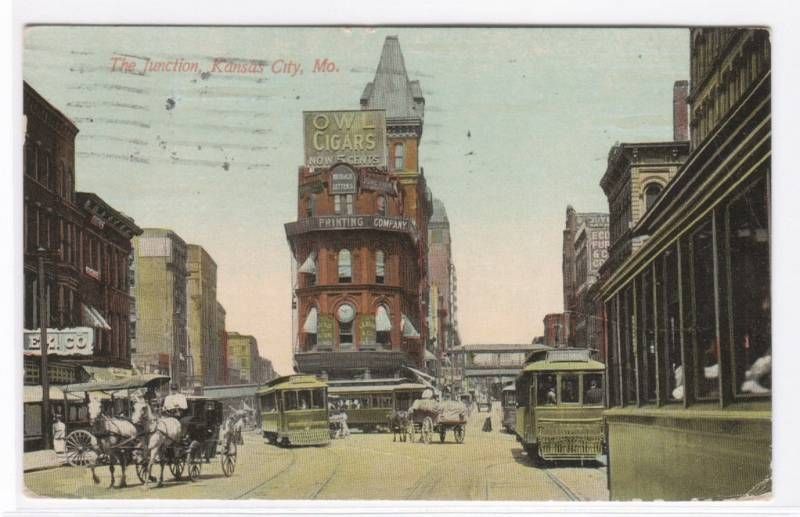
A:
[[[275,378],[256,390],[264,438],[271,444],[330,443],[328,384],[313,375]]]

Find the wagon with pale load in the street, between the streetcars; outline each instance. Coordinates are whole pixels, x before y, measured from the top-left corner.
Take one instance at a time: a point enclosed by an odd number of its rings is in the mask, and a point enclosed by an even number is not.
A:
[[[419,435],[419,441],[428,444],[434,434],[444,443],[448,431],[453,433],[456,443],[464,443],[467,425],[467,408],[459,401],[435,401],[419,399],[409,411],[409,433],[411,441]]]

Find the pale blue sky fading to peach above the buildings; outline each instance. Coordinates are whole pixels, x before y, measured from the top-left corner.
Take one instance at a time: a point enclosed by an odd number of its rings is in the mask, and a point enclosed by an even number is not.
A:
[[[228,328],[288,373],[301,112],[357,109],[388,34],[426,99],[421,163],[450,218],[462,341],[529,342],[562,309],[566,205],[607,211],[614,142],[672,138],[687,29],[35,27],[24,77],[80,129],[77,188],[204,246]],[[118,54],[266,67],[134,75],[111,70]],[[326,57],[338,72],[311,73]],[[279,59],[303,74],[272,73]]]

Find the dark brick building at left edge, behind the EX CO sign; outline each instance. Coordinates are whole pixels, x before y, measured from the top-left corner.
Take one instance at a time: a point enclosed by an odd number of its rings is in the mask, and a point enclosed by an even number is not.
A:
[[[51,380],[73,382],[75,365],[130,368],[129,255],[141,230],[97,195],[75,191],[78,129],[27,83],[23,95],[24,328],[39,327],[42,249],[48,328],[90,327],[94,334],[91,356],[51,361]],[[38,384],[37,365],[26,358],[26,384]]]

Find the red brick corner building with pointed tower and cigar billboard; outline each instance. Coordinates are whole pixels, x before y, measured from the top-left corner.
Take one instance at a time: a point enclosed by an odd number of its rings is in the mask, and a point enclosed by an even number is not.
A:
[[[304,113],[297,220],[285,226],[296,264],[295,368],[330,379],[421,368],[428,339],[425,100],[396,36],[360,101],[360,111]]]

